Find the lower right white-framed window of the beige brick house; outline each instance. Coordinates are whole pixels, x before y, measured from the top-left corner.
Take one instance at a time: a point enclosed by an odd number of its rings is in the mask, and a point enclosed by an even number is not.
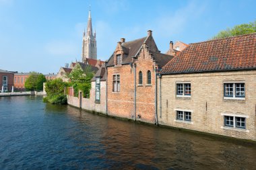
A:
[[[232,128],[245,128],[245,119],[238,116],[224,116],[224,125]]]

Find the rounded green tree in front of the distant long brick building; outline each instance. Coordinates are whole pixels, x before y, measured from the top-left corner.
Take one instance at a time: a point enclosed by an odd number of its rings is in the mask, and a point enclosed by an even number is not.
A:
[[[42,91],[44,82],[46,82],[44,75],[32,72],[25,81],[25,87],[27,90]]]

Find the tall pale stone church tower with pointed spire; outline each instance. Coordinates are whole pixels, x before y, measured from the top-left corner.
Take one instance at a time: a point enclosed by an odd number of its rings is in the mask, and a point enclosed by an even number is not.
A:
[[[83,44],[82,44],[82,62],[86,58],[97,60],[97,46],[96,46],[96,32],[92,32],[92,17],[91,10],[89,10],[87,30],[84,30]]]

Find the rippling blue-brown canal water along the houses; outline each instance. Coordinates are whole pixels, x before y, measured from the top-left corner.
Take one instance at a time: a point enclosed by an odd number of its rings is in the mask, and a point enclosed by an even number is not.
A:
[[[256,169],[256,146],[0,97],[0,169]]]

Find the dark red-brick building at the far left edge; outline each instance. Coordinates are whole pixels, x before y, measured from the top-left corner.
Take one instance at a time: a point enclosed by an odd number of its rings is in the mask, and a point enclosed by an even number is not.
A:
[[[14,73],[0,69],[0,91],[11,91]]]

